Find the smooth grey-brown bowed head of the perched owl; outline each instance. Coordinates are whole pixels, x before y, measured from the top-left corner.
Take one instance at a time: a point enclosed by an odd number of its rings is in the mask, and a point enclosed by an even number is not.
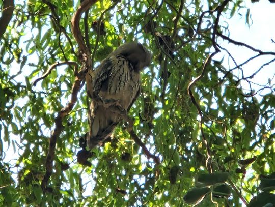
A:
[[[143,70],[151,63],[152,54],[141,43],[129,42],[119,46],[108,55],[123,55],[134,67],[136,72]]]

